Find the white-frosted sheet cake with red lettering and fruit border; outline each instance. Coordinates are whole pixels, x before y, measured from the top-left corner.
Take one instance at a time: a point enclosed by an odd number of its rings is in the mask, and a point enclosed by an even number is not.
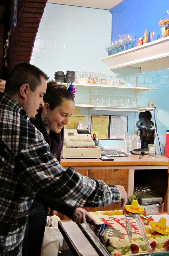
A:
[[[128,213],[130,214],[130,213]],[[143,213],[144,214],[144,213]],[[144,216],[143,214],[139,214],[141,219],[143,220],[146,226],[147,237],[149,243],[154,252],[163,252],[168,250],[168,240],[169,240],[169,228],[166,227],[166,222],[162,224],[164,226],[163,233],[161,234],[161,219],[159,216],[159,222],[156,223],[153,221],[151,216]],[[98,231],[98,227],[94,225],[89,225],[94,234],[98,237],[101,243],[104,244],[107,251],[110,255],[114,256],[122,256],[122,255],[131,255],[131,254],[147,254],[147,247],[145,245],[145,241],[141,235],[141,232],[138,228],[136,220],[133,216],[127,216],[128,220],[132,226],[132,242],[130,243],[128,240],[127,232],[126,232],[126,217],[124,216],[122,210],[115,211],[98,211],[98,212],[90,212],[90,215],[96,220],[97,224],[107,223],[111,224],[112,227],[120,231],[124,236],[123,238],[119,235],[118,237],[111,236],[101,236]],[[164,219],[164,218],[163,218]],[[166,220],[166,219],[165,219]],[[156,228],[155,228],[156,227]],[[168,231],[168,232],[166,232]]]

